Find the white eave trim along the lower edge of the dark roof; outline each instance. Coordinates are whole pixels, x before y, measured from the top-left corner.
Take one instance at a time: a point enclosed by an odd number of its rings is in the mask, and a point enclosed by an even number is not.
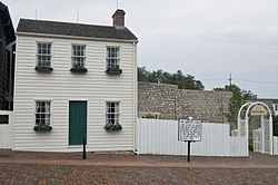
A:
[[[63,39],[78,39],[78,40],[96,40],[96,41],[113,41],[113,42],[139,42],[138,39],[109,39],[109,38],[95,38],[95,37],[80,37],[80,36],[64,36],[64,35],[50,35],[50,33],[38,33],[38,32],[23,32],[17,31],[16,36],[36,36],[36,37],[51,37],[51,38],[63,38]]]

